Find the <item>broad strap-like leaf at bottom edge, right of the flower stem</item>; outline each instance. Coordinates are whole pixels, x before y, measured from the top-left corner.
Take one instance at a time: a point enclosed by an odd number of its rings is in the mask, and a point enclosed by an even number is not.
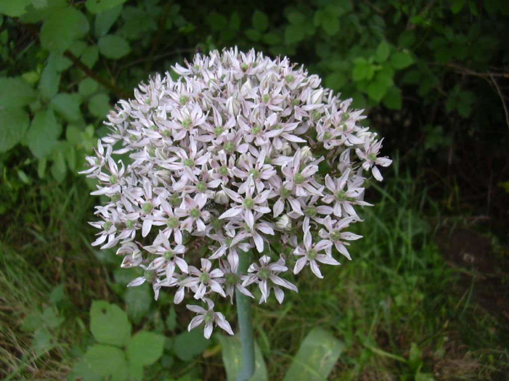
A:
[[[323,381],[327,379],[344,345],[331,333],[312,329],[300,344],[284,381]]]

